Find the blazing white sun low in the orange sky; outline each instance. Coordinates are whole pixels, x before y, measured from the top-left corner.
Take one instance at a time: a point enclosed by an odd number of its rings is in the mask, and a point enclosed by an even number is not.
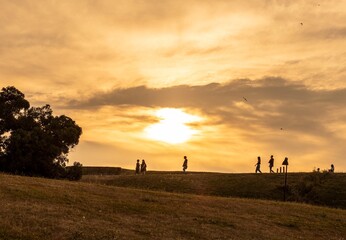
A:
[[[185,113],[176,108],[162,108],[155,114],[160,121],[148,126],[144,131],[147,137],[170,144],[188,141],[197,130],[187,123],[200,121],[200,117]]]

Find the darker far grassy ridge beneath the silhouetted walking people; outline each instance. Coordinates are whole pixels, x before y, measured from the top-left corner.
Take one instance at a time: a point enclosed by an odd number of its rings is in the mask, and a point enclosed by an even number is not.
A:
[[[283,200],[284,174],[130,173],[122,170],[119,175],[85,175],[82,181],[166,192]],[[288,201],[346,209],[345,173],[289,173],[288,186]]]

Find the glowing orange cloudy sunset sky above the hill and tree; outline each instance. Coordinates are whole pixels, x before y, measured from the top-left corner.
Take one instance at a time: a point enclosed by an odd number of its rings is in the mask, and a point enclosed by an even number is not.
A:
[[[82,127],[70,163],[346,171],[344,0],[0,6],[0,86]]]

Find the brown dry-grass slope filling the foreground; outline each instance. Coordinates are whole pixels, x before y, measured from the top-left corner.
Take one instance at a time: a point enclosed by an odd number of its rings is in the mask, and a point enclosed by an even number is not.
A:
[[[6,240],[346,236],[341,209],[5,174],[0,174],[0,206],[0,239]]]

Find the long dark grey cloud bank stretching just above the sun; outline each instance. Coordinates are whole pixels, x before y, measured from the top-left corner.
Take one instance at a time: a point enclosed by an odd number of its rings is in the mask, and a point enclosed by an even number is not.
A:
[[[313,90],[299,82],[268,77],[256,81],[240,79],[227,84],[114,89],[97,93],[84,102],[71,102],[69,107],[194,108],[217,117],[219,120],[215,124],[228,124],[250,131],[260,127],[328,136],[329,117],[342,112],[345,101],[346,89]]]

